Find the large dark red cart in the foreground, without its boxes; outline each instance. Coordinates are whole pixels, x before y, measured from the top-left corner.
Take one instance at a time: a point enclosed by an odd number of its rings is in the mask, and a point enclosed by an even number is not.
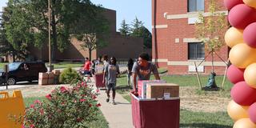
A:
[[[135,128],[178,128],[180,98],[141,99],[131,94]]]

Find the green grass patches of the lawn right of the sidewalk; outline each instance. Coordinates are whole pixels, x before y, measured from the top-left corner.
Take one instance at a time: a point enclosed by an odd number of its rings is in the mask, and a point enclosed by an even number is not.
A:
[[[162,70],[162,69],[161,69]],[[164,69],[163,69],[164,70]],[[160,71],[159,71],[160,72]],[[151,76],[154,79],[154,76]],[[161,76],[166,82],[176,83],[179,86],[195,86],[198,87],[197,94],[210,93],[199,89],[198,79],[196,75],[165,75]],[[208,76],[200,76],[202,86],[206,86]],[[223,76],[217,76],[215,78],[216,83],[222,84]],[[130,86],[127,86],[126,75],[122,74],[118,78],[117,91],[122,94],[123,98],[126,98],[130,102]],[[230,97],[230,89],[232,84],[226,79],[224,90],[218,91],[219,96]],[[180,110],[180,127],[198,127],[198,128],[231,128],[234,122],[231,120],[226,112],[217,113],[205,113],[205,112],[194,112],[190,110]]]

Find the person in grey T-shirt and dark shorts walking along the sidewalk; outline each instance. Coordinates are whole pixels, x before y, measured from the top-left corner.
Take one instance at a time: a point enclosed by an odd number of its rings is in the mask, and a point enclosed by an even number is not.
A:
[[[105,66],[105,70],[103,73],[103,78],[107,75],[106,77],[106,82],[105,79],[103,79],[102,83],[106,83],[106,102],[110,102],[110,90],[112,90],[112,104],[116,105],[114,102],[115,98],[115,86],[117,84],[117,75],[120,74],[119,66],[117,64],[117,60],[114,57],[110,58],[110,63],[108,63]]]

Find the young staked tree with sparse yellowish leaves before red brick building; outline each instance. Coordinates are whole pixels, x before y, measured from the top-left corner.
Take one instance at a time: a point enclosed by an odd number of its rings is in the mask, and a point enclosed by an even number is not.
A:
[[[195,24],[196,37],[206,46],[206,51],[211,54],[212,74],[214,75],[214,53],[224,46],[223,35],[228,27],[225,14],[218,13],[219,6],[215,0],[210,0],[208,11],[209,17],[199,13],[199,22]]]

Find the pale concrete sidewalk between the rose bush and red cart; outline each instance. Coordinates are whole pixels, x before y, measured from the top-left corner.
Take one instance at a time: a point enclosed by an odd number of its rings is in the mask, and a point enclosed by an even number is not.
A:
[[[88,84],[94,84],[94,81]],[[116,105],[112,104],[112,92],[110,91],[110,102],[106,102],[106,90],[100,90],[98,94],[98,102],[102,105],[100,110],[109,122],[110,128],[133,128],[132,115],[131,115],[131,104],[127,102],[125,98],[122,98],[121,94],[116,93],[115,102]]]

